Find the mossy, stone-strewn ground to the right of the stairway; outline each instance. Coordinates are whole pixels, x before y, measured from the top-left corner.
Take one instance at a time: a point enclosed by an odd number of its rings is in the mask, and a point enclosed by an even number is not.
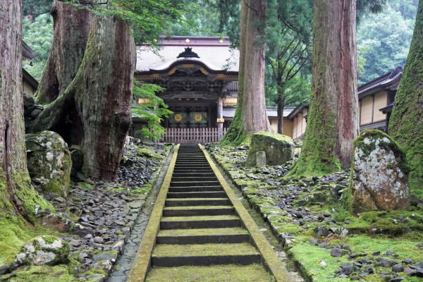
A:
[[[247,146],[207,149],[309,281],[422,281],[422,199],[406,210],[356,217],[341,204],[348,171],[293,179],[285,175],[295,159],[245,168]]]

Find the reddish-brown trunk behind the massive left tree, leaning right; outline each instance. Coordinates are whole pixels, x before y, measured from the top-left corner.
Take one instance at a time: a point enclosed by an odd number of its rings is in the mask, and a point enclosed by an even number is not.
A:
[[[54,41],[35,97],[50,103],[66,90],[82,61],[90,31],[92,13],[55,0],[51,8]]]

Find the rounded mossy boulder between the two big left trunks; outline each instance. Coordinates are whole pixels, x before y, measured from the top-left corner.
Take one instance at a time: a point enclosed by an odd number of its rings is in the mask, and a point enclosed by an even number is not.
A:
[[[44,192],[68,196],[71,153],[63,138],[52,131],[25,135],[27,166],[32,181]]]

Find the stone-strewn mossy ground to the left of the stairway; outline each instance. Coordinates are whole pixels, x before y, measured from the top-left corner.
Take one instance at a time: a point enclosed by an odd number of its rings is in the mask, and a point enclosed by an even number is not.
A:
[[[29,227],[16,218],[0,216],[0,274],[3,274],[0,281],[104,281],[128,243],[170,149],[131,139],[116,180],[86,179],[73,183],[68,199],[43,195],[68,219],[65,223],[68,230]],[[20,248],[39,235],[56,235],[66,240],[71,249],[68,264],[19,267],[14,264]]]

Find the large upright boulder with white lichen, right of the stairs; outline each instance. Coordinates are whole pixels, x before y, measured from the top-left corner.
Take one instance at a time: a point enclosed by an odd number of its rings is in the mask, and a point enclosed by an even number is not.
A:
[[[396,142],[379,130],[364,130],[354,146],[349,203],[353,212],[409,207],[408,168]]]

